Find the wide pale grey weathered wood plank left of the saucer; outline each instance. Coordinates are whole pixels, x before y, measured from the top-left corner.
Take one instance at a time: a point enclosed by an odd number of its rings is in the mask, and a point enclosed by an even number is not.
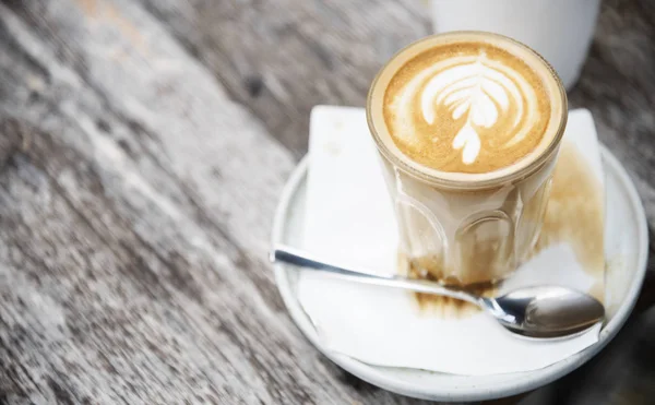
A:
[[[303,340],[265,263],[291,155],[130,1],[0,5],[8,403],[408,403]],[[19,130],[20,129],[20,130]]]

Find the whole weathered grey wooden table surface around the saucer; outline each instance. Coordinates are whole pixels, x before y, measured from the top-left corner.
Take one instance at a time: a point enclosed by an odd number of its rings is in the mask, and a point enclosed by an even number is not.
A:
[[[418,404],[296,329],[266,261],[313,105],[362,106],[416,0],[0,1],[0,402]],[[586,107],[655,225],[655,2],[606,0]],[[652,403],[653,272],[526,404]]]

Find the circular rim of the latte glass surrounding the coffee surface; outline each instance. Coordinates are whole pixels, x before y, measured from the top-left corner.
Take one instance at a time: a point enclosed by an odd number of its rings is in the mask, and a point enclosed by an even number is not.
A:
[[[507,167],[503,167],[501,169],[493,170],[490,172],[486,172],[486,174],[453,174],[453,172],[440,171],[440,170],[420,165],[417,162],[412,160],[408,156],[404,155],[400,150],[397,151],[397,153],[393,153],[389,148],[389,146],[385,144],[385,142],[380,136],[379,128],[377,127],[377,124],[374,122],[374,118],[372,117],[372,108],[371,108],[371,106],[373,104],[373,96],[374,96],[374,93],[376,93],[376,90],[377,90],[377,86],[378,86],[378,83],[379,83],[381,76],[383,74],[388,73],[388,69],[390,68],[390,65],[398,57],[409,52],[412,49],[420,48],[426,43],[438,41],[440,39],[445,40],[449,37],[455,37],[455,38],[456,37],[474,37],[474,38],[477,37],[480,39],[495,38],[500,41],[505,41],[505,43],[512,44],[513,46],[517,46],[519,48],[523,49],[527,53],[531,53],[532,56],[534,56],[535,60],[537,60],[538,62],[544,64],[544,67],[546,68],[544,71],[548,72],[550,74],[550,76],[555,83],[555,87],[557,88],[557,93],[560,96],[561,114],[559,115],[559,117],[556,117],[556,118],[559,118],[559,124],[555,129],[555,134],[552,135],[550,143],[546,146],[546,148],[540,154],[538,154],[536,156],[531,156],[531,158],[528,158],[528,157],[522,158],[519,162],[516,162],[510,166],[507,166]],[[397,72],[397,69],[396,69],[396,72]],[[395,72],[393,72],[393,74],[395,74]],[[557,97],[557,95],[555,95],[553,97]],[[550,65],[550,63],[548,63],[548,61],[546,59],[544,59],[544,57],[541,57],[541,55],[539,55],[533,48],[528,47],[527,45],[525,45],[516,39],[510,38],[504,35],[496,34],[496,33],[489,33],[489,32],[483,32],[483,31],[453,31],[453,32],[448,32],[448,33],[429,35],[427,37],[424,37],[421,39],[418,39],[418,40],[405,46],[404,48],[402,48],[401,50],[395,52],[389,59],[389,61],[386,61],[386,63],[384,63],[384,65],[382,65],[382,68],[376,74],[376,78],[373,79],[373,81],[371,83],[371,87],[370,87],[368,96],[367,96],[366,116],[367,116],[369,131],[371,132],[371,135],[373,136],[373,140],[376,142],[376,146],[378,147],[378,151],[385,159],[388,159],[390,163],[392,163],[396,168],[405,171],[409,176],[417,178],[424,182],[428,182],[428,183],[431,183],[436,187],[440,187],[443,189],[483,190],[483,189],[496,188],[496,187],[499,187],[502,184],[515,183],[517,181],[521,181],[522,179],[529,177],[532,174],[534,174],[536,170],[538,170],[544,164],[546,164],[550,159],[550,157],[558,151],[561,139],[564,133],[564,129],[567,127],[568,99],[567,99],[567,91],[562,84],[562,81],[560,80],[559,75],[557,74],[556,70],[552,68],[552,65]],[[384,131],[388,131],[385,128],[385,123],[382,123],[381,126],[384,127]],[[393,141],[391,141],[391,142],[393,142]],[[401,157],[401,156],[403,156],[403,157]],[[516,168],[516,166],[519,166],[519,165],[522,165],[522,166],[520,166],[520,168]],[[453,177],[457,177],[457,179],[453,179]]]

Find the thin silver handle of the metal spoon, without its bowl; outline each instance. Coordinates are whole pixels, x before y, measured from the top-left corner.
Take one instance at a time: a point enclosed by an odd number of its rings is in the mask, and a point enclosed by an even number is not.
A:
[[[276,245],[271,251],[270,259],[271,262],[281,261],[303,269],[326,272],[338,278],[353,282],[407,289],[416,293],[434,294],[480,305],[478,297],[466,291],[451,289],[434,282],[413,279],[400,275],[379,275],[364,269],[330,263],[300,249],[284,245]]]

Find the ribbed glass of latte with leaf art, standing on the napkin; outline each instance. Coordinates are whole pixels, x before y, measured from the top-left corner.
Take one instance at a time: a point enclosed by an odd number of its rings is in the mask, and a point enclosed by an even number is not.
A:
[[[489,33],[427,37],[381,69],[367,118],[412,274],[493,284],[528,258],[567,123],[539,55]]]

